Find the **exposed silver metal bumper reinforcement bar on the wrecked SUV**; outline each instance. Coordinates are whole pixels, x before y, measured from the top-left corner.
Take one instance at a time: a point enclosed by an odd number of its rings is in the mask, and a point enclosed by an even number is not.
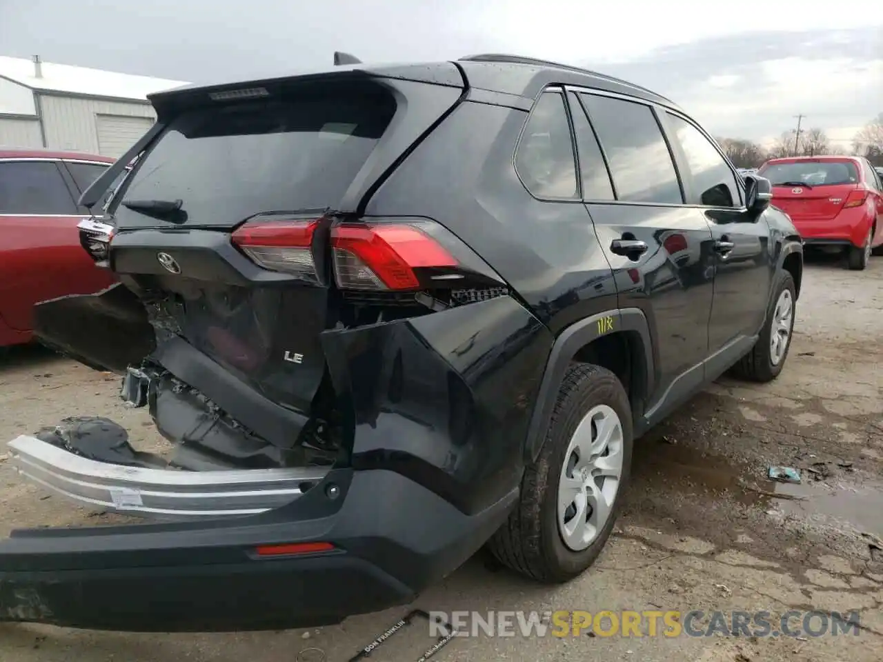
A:
[[[325,468],[184,471],[89,460],[29,435],[9,442],[26,479],[87,508],[156,517],[254,515],[297,499]]]

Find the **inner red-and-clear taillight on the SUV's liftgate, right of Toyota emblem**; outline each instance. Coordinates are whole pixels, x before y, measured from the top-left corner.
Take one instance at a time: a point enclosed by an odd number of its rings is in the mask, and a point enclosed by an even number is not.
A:
[[[318,220],[250,221],[230,241],[260,267],[316,281],[312,245],[318,225]]]

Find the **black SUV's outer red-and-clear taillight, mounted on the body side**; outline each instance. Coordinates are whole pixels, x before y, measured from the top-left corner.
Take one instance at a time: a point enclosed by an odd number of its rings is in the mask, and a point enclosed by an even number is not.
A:
[[[417,290],[420,267],[457,267],[416,225],[341,223],[331,229],[337,285],[349,290]]]

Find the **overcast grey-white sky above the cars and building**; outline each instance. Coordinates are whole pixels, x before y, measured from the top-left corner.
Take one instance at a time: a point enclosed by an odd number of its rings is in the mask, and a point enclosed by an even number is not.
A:
[[[883,112],[883,0],[0,0],[0,55],[200,82],[504,52],[592,67],[719,136],[808,116],[844,147]]]

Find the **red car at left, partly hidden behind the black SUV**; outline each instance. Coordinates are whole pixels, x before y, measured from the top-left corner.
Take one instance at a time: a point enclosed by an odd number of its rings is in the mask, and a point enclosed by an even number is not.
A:
[[[114,278],[79,242],[79,194],[113,159],[0,150],[0,347],[30,342],[34,304],[90,294]]]

